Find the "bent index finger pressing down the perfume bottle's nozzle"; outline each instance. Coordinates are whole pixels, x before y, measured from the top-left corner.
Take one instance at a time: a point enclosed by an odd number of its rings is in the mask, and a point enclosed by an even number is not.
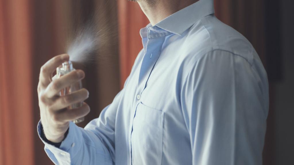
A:
[[[51,82],[51,74],[59,67],[63,62],[69,60],[68,54],[61,54],[51,58],[47,61],[40,70],[40,81],[45,86]]]

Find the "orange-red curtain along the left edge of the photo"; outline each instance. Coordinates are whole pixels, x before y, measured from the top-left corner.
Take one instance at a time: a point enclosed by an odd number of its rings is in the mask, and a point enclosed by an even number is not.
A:
[[[0,164],[34,163],[31,1],[0,1]]]

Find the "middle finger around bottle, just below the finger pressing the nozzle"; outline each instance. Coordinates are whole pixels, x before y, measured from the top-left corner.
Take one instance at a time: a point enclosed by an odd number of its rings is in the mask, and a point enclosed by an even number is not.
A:
[[[75,70],[68,74],[61,76],[58,79],[53,80],[46,89],[47,97],[56,96],[62,89],[68,87],[85,77],[85,73],[82,70]]]

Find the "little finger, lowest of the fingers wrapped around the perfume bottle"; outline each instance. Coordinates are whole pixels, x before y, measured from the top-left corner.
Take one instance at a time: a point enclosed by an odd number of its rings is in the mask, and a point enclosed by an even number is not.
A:
[[[56,112],[55,120],[59,122],[68,122],[72,121],[74,119],[78,119],[80,117],[86,116],[90,112],[90,107],[83,103],[82,107],[76,108],[76,109],[66,109],[60,112]]]

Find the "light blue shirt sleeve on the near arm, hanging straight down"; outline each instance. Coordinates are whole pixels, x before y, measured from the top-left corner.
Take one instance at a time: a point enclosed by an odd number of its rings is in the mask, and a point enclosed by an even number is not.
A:
[[[228,51],[195,62],[181,90],[194,165],[262,164],[268,87],[261,74]]]

